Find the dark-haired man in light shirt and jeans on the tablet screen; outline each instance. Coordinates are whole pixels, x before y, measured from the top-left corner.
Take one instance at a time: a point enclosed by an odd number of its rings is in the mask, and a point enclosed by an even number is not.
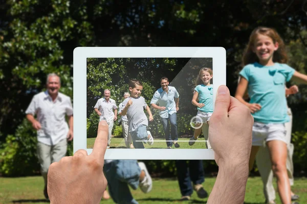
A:
[[[171,148],[173,144],[176,148],[178,148],[180,147],[177,142],[177,111],[179,110],[179,93],[175,87],[168,86],[169,82],[166,77],[162,77],[160,84],[161,88],[158,89],[155,94],[153,94],[150,105],[152,108],[159,110],[167,148]],[[157,103],[159,103],[159,106]]]

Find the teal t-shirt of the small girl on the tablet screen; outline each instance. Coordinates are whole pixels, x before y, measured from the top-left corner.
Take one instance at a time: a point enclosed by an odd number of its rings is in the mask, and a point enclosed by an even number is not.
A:
[[[204,84],[197,85],[194,89],[199,93],[199,103],[205,104],[204,107],[199,108],[197,110],[212,113],[213,112],[213,86],[212,84],[209,86],[205,86]]]

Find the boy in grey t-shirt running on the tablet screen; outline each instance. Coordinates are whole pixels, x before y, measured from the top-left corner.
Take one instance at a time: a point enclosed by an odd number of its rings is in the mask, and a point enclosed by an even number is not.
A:
[[[130,97],[127,97],[123,101],[122,106],[124,109],[121,112],[123,116],[127,115],[128,132],[132,137],[135,148],[144,148],[143,142],[148,142],[149,145],[153,144],[153,138],[150,132],[147,131],[148,119],[144,113],[144,109],[146,109],[149,115],[149,121],[153,121],[153,117],[149,106],[146,104],[145,98],[140,96],[142,90],[143,85],[140,81],[130,80]]]

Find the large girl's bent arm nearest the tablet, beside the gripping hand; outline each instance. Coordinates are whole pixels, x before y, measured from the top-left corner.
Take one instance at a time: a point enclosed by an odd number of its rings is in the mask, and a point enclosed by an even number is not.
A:
[[[254,113],[256,111],[259,111],[261,109],[261,106],[259,104],[250,104],[244,100],[243,96],[245,94],[247,86],[248,86],[248,81],[244,77],[240,77],[240,81],[238,83],[234,97],[238,99],[242,104],[249,107],[251,112]]]

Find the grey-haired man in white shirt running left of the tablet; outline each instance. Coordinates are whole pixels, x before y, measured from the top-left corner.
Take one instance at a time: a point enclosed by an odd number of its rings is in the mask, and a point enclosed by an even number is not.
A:
[[[37,157],[45,181],[43,193],[47,199],[49,166],[65,157],[67,140],[73,139],[73,107],[70,97],[59,92],[60,87],[58,75],[48,74],[47,90],[34,95],[26,110],[27,119],[37,130]],[[34,115],[37,116],[37,120]],[[69,127],[65,115],[68,115]]]

